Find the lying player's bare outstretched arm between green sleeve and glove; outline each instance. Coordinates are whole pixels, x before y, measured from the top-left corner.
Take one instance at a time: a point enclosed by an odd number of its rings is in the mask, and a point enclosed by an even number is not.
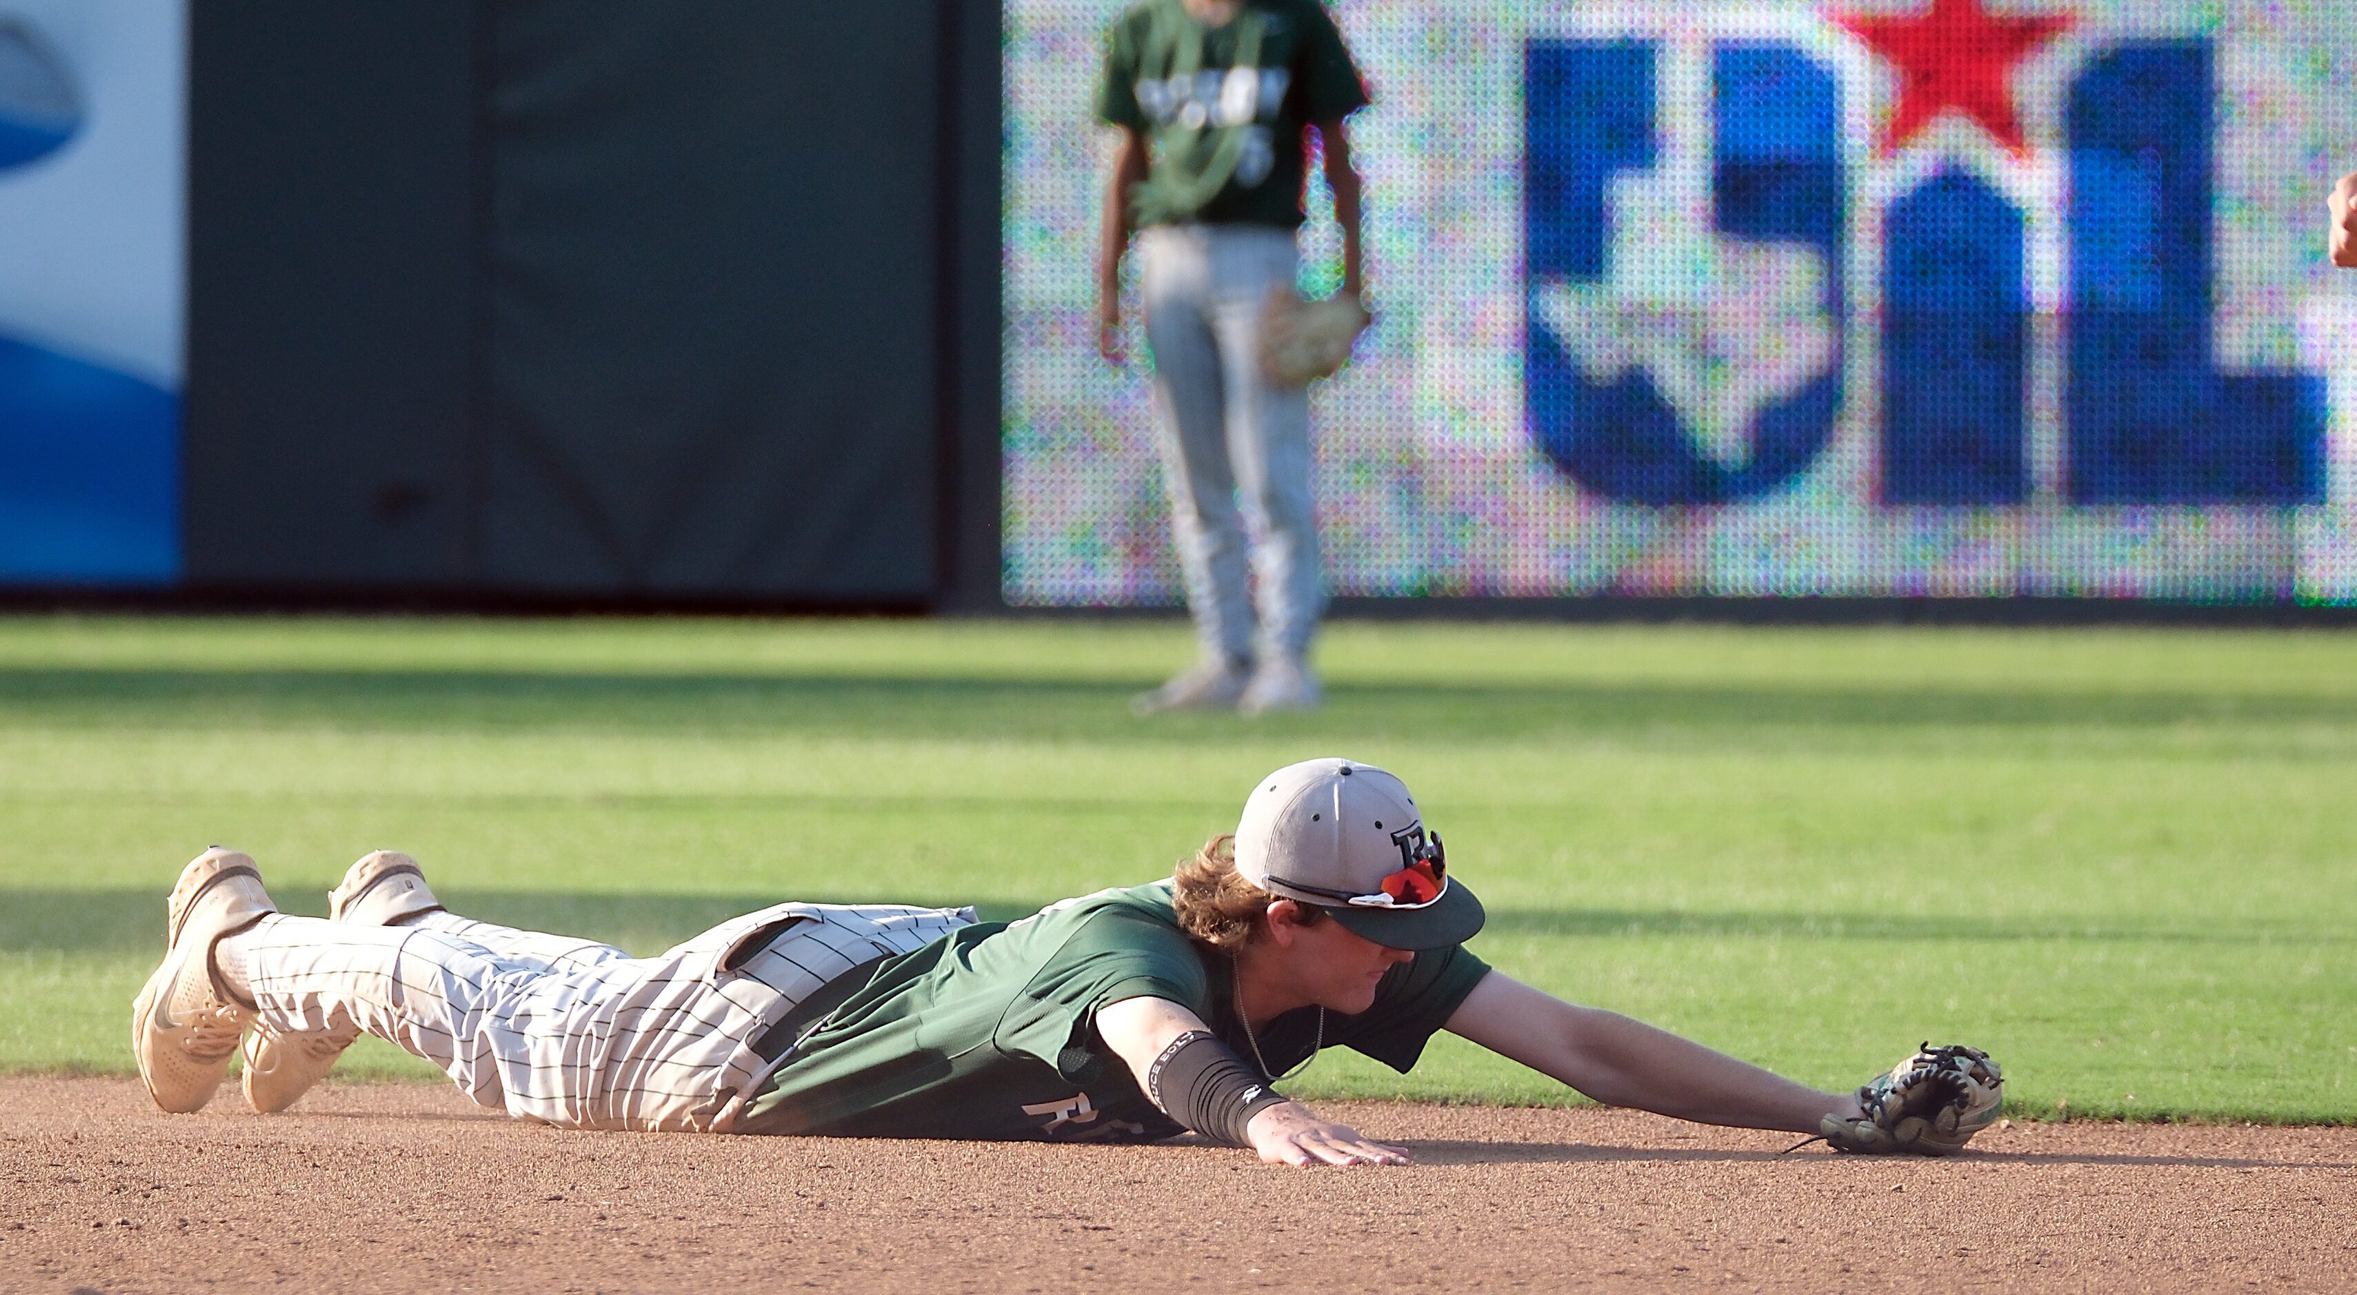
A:
[[[1810,1135],[1824,1116],[1857,1118],[1855,1097],[1817,1092],[1619,1012],[1577,1007],[1501,972],[1473,986],[1447,1028],[1605,1106]]]

